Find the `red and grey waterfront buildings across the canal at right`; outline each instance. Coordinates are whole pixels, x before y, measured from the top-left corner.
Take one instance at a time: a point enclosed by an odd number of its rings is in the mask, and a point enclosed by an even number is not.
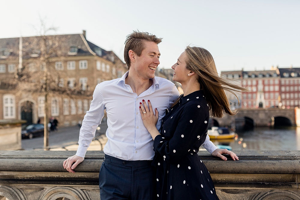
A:
[[[276,68],[263,71],[222,71],[221,75],[238,81],[248,91],[235,108],[294,108],[300,105],[300,68]],[[232,104],[235,98],[226,95]]]

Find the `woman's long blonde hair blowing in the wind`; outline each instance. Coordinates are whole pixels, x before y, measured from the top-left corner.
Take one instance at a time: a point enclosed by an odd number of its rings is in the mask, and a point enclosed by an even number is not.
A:
[[[187,54],[186,68],[198,75],[200,89],[203,89],[206,101],[213,117],[222,117],[223,113],[235,115],[237,111],[231,111],[224,90],[233,92],[245,92],[246,88],[229,83],[219,77],[214,59],[208,50],[202,47],[190,47],[185,49]],[[239,101],[238,101],[239,102]]]

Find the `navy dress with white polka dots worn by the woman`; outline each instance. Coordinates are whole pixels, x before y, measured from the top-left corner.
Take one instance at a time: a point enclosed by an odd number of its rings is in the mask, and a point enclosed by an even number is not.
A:
[[[155,137],[153,144],[157,199],[219,199],[209,172],[197,155],[209,120],[203,91],[181,96],[162,120],[161,135]]]

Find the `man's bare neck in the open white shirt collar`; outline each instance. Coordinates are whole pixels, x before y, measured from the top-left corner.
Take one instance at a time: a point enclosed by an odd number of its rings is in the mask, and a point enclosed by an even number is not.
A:
[[[125,78],[125,84],[130,85],[132,91],[134,93],[137,93],[137,95],[140,95],[141,93],[149,89],[150,86],[152,86],[153,81],[152,79],[143,79],[141,77],[135,76],[129,71],[128,76]]]

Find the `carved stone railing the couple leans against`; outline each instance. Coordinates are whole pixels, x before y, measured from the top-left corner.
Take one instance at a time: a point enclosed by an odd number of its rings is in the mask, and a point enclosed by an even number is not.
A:
[[[0,200],[100,199],[103,151],[88,151],[76,173],[64,159],[74,151],[0,151]],[[299,200],[300,151],[235,151],[239,161],[198,154],[221,200]],[[187,192],[187,191],[183,191]]]

